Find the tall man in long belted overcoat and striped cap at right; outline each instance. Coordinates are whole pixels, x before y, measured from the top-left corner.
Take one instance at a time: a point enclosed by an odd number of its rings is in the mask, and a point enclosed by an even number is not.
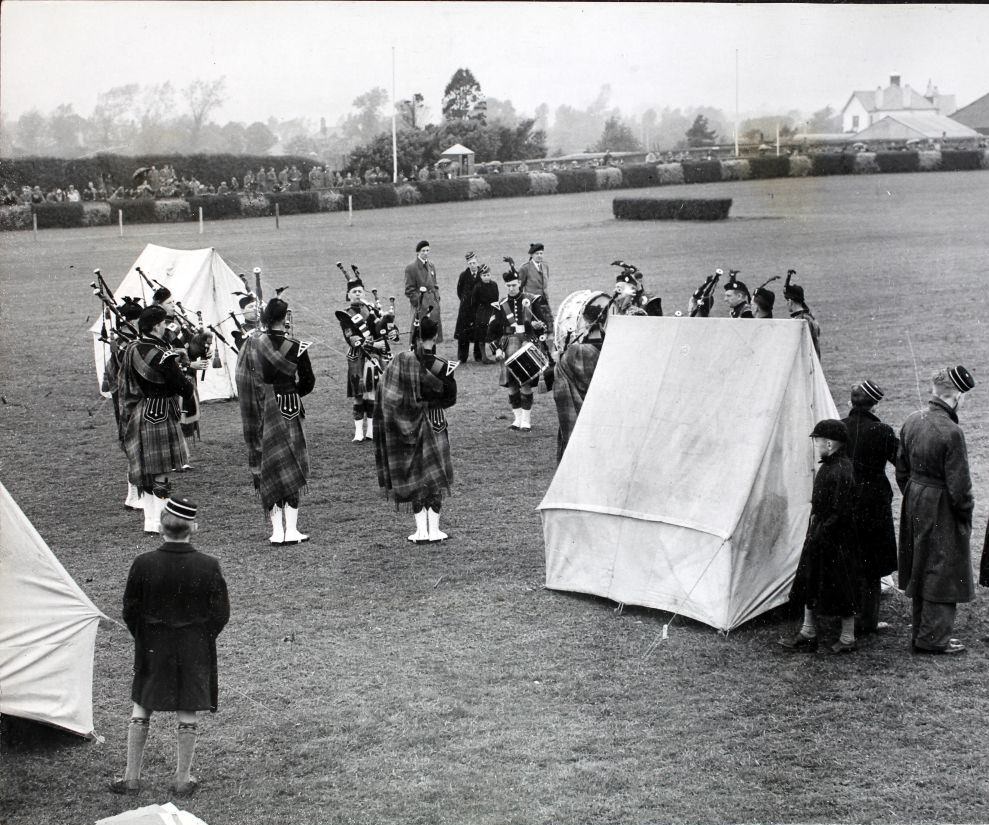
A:
[[[972,479],[958,408],[975,386],[963,366],[936,372],[926,410],[900,430],[896,483],[900,514],[900,587],[913,599],[913,650],[962,653],[951,637],[959,602],[975,596],[969,536]]]

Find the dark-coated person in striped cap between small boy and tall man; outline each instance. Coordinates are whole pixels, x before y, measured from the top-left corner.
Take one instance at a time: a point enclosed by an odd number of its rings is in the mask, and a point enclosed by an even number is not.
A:
[[[859,633],[875,633],[879,625],[882,578],[896,570],[893,529],[893,488],[886,478],[887,462],[896,465],[899,443],[889,424],[873,412],[883,398],[874,381],[852,387],[852,408],[843,418],[848,428],[846,450],[855,472],[853,522],[859,545]]]

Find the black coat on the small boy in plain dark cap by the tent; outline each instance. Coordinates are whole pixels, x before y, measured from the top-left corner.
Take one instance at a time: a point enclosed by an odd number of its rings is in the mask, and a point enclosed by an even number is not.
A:
[[[856,611],[858,547],[852,508],[855,476],[843,450],[821,460],[810,500],[810,523],[790,601],[826,616]]]

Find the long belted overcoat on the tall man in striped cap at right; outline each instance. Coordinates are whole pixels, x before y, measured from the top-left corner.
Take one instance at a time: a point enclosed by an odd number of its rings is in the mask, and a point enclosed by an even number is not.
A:
[[[930,602],[969,602],[975,596],[969,538],[972,479],[958,416],[934,398],[900,430],[896,483],[900,513],[900,587]]]

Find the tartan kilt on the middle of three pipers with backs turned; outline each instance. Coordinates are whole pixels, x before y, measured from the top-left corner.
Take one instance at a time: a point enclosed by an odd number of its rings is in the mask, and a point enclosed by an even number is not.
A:
[[[301,493],[309,478],[309,448],[302,429],[303,413],[288,419],[282,415],[273,390],[265,394],[261,436],[261,486],[264,509]]]

